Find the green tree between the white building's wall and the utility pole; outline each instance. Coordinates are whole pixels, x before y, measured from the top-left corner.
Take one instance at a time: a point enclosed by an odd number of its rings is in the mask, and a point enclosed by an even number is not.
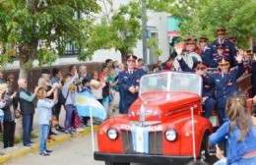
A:
[[[100,23],[91,27],[87,54],[80,56],[80,60],[84,60],[98,49],[114,48],[121,53],[122,61],[125,61],[125,56],[132,53],[138,40],[142,39],[142,19],[147,19],[147,16],[142,14],[141,0],[131,0],[116,11],[111,8],[113,1],[102,0],[102,2],[103,6],[110,6],[109,11],[105,8]],[[148,48],[158,44],[157,39],[149,38]],[[160,55],[160,49],[156,49],[155,54]]]

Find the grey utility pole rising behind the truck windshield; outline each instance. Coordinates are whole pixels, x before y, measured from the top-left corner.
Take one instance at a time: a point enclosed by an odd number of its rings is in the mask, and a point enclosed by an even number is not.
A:
[[[142,44],[143,44],[143,60],[145,64],[149,64],[148,61],[148,48],[147,48],[147,39],[148,39],[148,30],[147,30],[147,7],[146,0],[142,0]]]

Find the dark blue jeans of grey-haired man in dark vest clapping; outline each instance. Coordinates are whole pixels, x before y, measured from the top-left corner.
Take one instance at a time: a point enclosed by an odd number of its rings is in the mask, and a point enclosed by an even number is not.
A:
[[[33,118],[33,114],[23,115],[23,144],[24,145],[28,145],[31,143],[32,118]]]

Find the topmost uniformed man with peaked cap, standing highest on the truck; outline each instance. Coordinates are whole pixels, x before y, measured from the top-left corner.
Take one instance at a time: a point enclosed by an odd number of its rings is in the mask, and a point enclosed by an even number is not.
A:
[[[234,44],[230,42],[229,40],[225,39],[226,29],[225,28],[219,28],[218,29],[218,39],[213,41],[211,44],[211,50],[213,53],[217,53],[217,45],[223,44],[224,50],[229,49],[229,65],[230,67],[236,66],[235,56],[236,56],[236,49],[234,47]]]

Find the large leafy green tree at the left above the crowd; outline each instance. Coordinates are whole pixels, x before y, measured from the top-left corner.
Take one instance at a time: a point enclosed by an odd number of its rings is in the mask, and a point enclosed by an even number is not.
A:
[[[0,0],[0,65],[20,61],[20,78],[27,78],[32,62],[52,64],[62,56],[67,44],[74,44],[84,54],[87,17],[100,7],[95,0]],[[76,19],[75,13],[85,14]],[[90,56],[88,56],[90,58]]]

